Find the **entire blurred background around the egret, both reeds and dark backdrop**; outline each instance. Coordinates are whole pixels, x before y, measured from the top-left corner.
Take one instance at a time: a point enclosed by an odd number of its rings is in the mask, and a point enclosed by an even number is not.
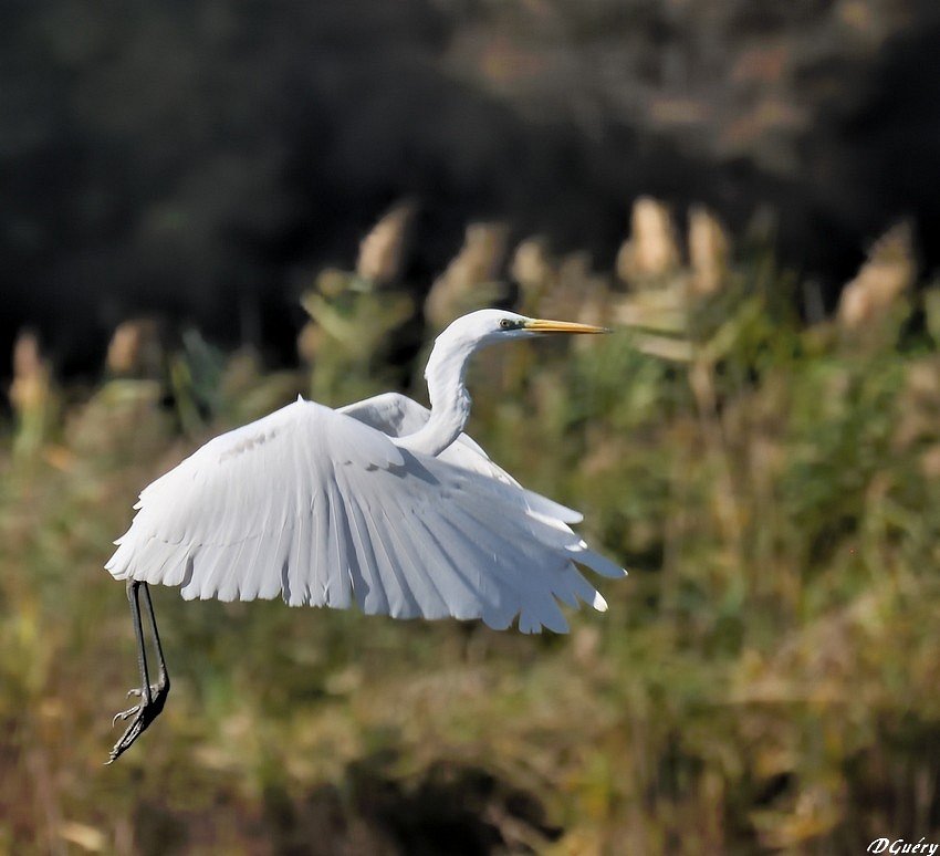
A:
[[[0,853],[940,841],[936,0],[0,4]],[[356,252],[358,248],[358,252]],[[154,593],[140,488],[425,400],[631,570],[567,637]]]

